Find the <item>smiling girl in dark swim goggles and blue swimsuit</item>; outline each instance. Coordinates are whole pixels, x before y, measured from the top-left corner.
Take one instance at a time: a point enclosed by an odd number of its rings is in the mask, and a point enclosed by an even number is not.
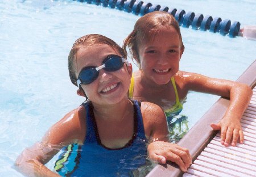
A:
[[[16,166],[35,176],[131,176],[146,164],[172,161],[186,171],[187,149],[168,141],[164,112],[153,103],[128,99],[132,69],[113,40],[86,35],[69,53],[69,75],[88,100],[53,125],[42,142],[25,149]],[[60,149],[55,172],[45,163]],[[76,151],[75,151],[76,150]]]

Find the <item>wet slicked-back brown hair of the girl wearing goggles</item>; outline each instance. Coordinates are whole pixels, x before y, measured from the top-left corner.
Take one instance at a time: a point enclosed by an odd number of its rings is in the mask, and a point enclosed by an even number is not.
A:
[[[119,54],[121,54],[122,57],[127,58],[127,53],[117,43],[115,43],[112,39],[109,39],[108,37],[97,34],[82,36],[75,41],[68,55],[69,78],[71,79],[73,85],[77,86],[77,77],[75,74],[75,69],[73,67],[73,61],[76,58],[77,51],[81,48],[92,47],[93,45],[99,44],[107,44],[110,47],[112,47],[115,51],[117,51]]]

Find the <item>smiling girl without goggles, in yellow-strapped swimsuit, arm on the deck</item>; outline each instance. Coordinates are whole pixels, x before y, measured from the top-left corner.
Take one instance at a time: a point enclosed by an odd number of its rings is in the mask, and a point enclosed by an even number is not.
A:
[[[152,102],[164,109],[170,123],[183,109],[188,91],[205,92],[230,98],[223,119],[212,128],[221,130],[221,144],[243,143],[240,124],[249,104],[251,88],[242,83],[209,78],[179,70],[184,45],[179,24],[168,12],[150,12],[137,20],[123,42],[139,70],[131,78],[130,98]]]

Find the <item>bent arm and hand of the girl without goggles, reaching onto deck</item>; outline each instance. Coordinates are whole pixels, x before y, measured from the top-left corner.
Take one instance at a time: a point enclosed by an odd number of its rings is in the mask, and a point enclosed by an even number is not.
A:
[[[186,75],[186,77],[183,77],[186,90],[205,92],[230,98],[230,104],[224,117],[221,119],[220,123],[212,124],[211,127],[215,130],[221,130],[222,145],[228,146],[231,142],[231,145],[235,146],[238,137],[240,137],[240,143],[243,143],[240,119],[250,102],[252,95],[251,88],[243,83],[209,78],[195,73],[183,73],[183,75]]]

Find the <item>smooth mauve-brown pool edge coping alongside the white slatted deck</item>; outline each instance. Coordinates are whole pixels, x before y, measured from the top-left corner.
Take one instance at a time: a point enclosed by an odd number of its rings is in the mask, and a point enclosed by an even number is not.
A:
[[[256,60],[244,71],[237,79],[237,82],[245,83],[253,88],[256,85]],[[187,134],[177,143],[179,146],[189,149],[192,156],[192,162],[209,144],[210,140],[217,134],[210,127],[211,123],[218,123],[222,119],[226,108],[229,106],[229,99],[220,98],[212,107],[204,114],[199,121],[189,130]],[[184,174],[180,168],[172,162],[166,165],[156,165],[147,175],[147,177],[176,177]]]

